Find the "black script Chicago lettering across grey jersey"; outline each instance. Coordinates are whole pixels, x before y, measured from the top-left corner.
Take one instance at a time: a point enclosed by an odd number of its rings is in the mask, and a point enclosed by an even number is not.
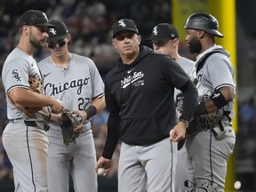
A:
[[[79,95],[82,92],[83,85],[86,85],[89,83],[89,79],[90,77],[85,77],[84,79],[82,78],[75,79],[71,82],[66,82],[65,84],[59,83],[59,86],[48,83],[44,85],[44,91],[46,92],[47,89],[52,90],[52,92],[50,93],[50,96],[53,96],[53,95],[59,94],[60,92],[64,92],[65,90],[78,87],[77,94]]]

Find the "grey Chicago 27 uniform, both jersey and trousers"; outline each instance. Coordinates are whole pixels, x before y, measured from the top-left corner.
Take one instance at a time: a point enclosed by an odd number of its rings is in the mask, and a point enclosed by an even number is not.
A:
[[[93,99],[104,95],[100,73],[89,58],[73,53],[67,68],[54,65],[50,57],[38,65],[44,76],[46,94],[61,100],[65,108],[84,110]],[[94,172],[96,150],[91,122],[84,124],[83,132],[68,146],[63,144],[60,124],[49,125],[49,191],[68,191],[70,173],[75,191],[97,192],[97,175]]]

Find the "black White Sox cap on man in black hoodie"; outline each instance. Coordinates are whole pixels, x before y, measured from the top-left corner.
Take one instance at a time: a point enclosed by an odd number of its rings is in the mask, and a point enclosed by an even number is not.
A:
[[[138,28],[136,27],[134,21],[129,19],[117,20],[113,24],[112,30],[113,30],[113,37],[115,37],[118,32],[123,30],[131,30],[139,35]]]

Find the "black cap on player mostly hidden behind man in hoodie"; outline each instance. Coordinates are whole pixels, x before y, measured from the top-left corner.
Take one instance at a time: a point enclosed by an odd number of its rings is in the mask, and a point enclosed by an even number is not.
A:
[[[153,30],[151,37],[148,40],[169,40],[169,39],[179,39],[179,34],[177,29],[169,23],[157,24]]]

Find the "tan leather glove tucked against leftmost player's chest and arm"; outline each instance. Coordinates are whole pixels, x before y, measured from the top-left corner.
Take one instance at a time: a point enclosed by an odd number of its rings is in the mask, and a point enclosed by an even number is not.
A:
[[[29,83],[29,90],[31,90],[32,92],[37,92],[39,94],[42,94],[42,84],[41,84],[41,81],[38,78],[36,78],[36,76],[29,76],[28,83]],[[9,95],[8,95],[8,98],[9,100],[11,100]],[[12,101],[12,104],[29,117],[33,116],[37,111],[42,109],[42,108],[24,107],[19,103],[15,103],[13,101]]]

